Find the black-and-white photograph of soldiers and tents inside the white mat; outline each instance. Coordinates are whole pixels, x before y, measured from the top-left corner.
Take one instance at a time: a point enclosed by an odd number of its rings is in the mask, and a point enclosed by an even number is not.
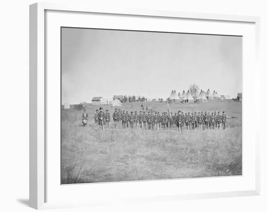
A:
[[[61,184],[242,175],[242,36],[61,27]]]

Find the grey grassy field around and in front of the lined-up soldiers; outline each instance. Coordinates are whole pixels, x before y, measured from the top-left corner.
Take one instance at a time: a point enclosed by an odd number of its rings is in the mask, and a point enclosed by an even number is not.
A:
[[[121,109],[141,109],[125,103]],[[144,103],[167,111],[166,103]],[[172,104],[171,111],[225,111],[225,130],[139,130],[94,127],[99,106],[86,105],[89,121],[82,127],[83,111],[62,110],[62,183],[116,182],[242,174],[242,105],[232,100],[203,104]],[[112,106],[103,106],[112,114]],[[111,124],[112,125],[112,122]]]

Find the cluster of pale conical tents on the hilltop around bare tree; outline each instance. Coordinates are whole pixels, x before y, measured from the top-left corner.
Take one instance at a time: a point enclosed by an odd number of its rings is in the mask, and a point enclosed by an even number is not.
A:
[[[213,91],[211,94],[210,90],[208,89],[207,92],[200,91],[200,93],[196,93],[194,97],[189,92],[189,90],[185,93],[185,91],[182,92],[182,94],[179,92],[178,94],[176,91],[171,91],[171,94],[168,98],[169,103],[193,103],[193,102],[208,102],[208,100],[217,100],[217,99],[224,99],[225,97],[221,95],[219,97],[218,93],[216,91]]]

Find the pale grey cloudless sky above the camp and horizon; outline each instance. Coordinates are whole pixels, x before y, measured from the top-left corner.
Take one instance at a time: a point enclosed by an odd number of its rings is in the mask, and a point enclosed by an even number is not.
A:
[[[169,97],[193,83],[236,97],[242,92],[242,37],[62,28],[62,104],[94,96]]]

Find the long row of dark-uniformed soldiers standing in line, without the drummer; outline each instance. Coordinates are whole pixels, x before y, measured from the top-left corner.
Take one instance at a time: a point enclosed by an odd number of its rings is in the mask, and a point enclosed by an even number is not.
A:
[[[178,111],[178,113],[171,112],[170,115],[167,112],[150,112],[146,113],[145,111],[140,111],[139,114],[137,111],[131,112],[115,109],[113,115],[114,127],[117,128],[140,128],[140,129],[178,129],[182,131],[185,129],[215,129],[226,127],[226,115],[222,112],[220,115],[219,112],[190,112],[185,113]],[[95,125],[100,125],[104,127],[109,127],[109,122],[111,121],[111,116],[108,110],[103,112],[103,108],[100,107],[99,110],[96,110],[94,115]]]

